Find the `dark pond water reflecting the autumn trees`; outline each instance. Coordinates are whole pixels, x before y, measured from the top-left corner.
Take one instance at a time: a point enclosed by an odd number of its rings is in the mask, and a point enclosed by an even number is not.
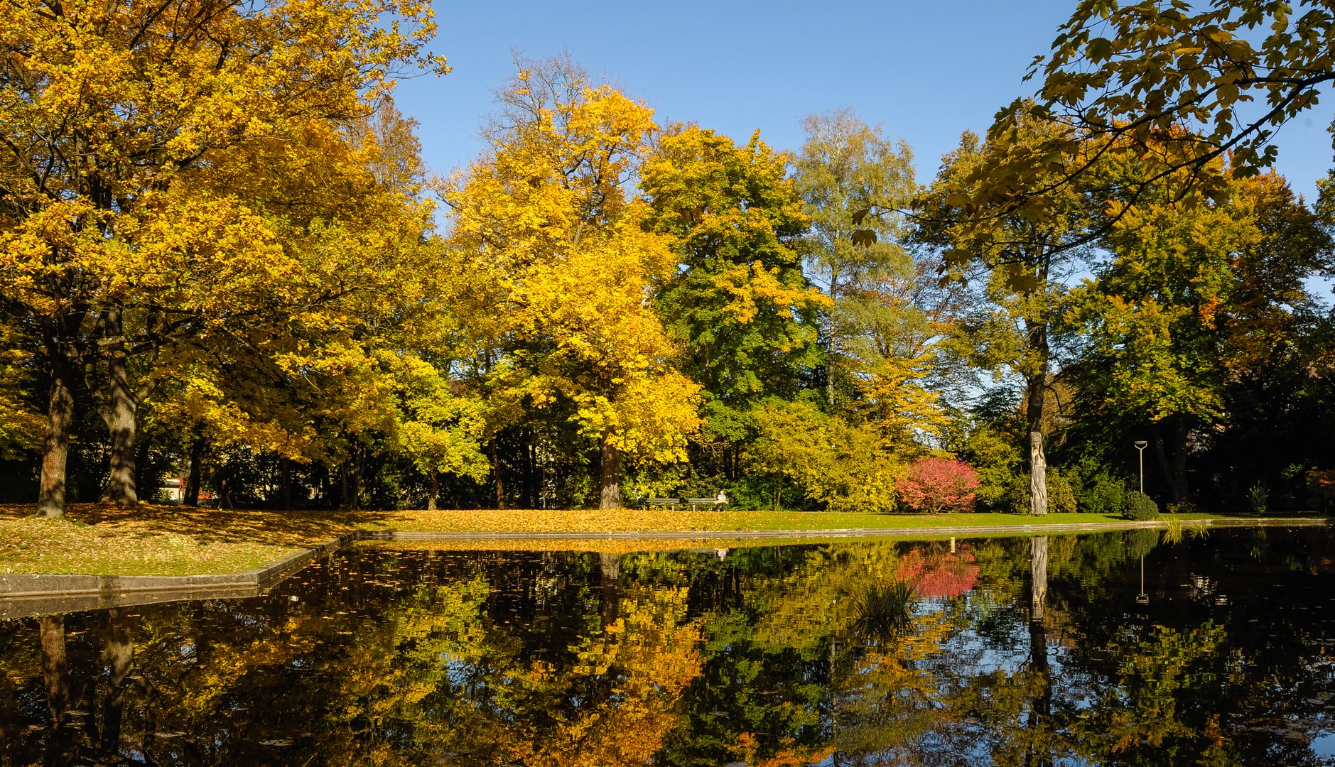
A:
[[[354,548],[264,598],[0,623],[0,763],[1331,764],[1332,558]]]

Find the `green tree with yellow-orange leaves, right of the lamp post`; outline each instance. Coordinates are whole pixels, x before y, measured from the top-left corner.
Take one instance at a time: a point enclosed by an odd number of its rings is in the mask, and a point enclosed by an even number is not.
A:
[[[1231,381],[1294,353],[1300,316],[1315,309],[1307,280],[1331,257],[1328,233],[1282,176],[1226,188],[1218,203],[1141,197],[1105,237],[1113,257],[1072,312],[1088,337],[1089,415],[1148,423],[1173,503],[1191,498],[1192,432],[1230,420]]]

